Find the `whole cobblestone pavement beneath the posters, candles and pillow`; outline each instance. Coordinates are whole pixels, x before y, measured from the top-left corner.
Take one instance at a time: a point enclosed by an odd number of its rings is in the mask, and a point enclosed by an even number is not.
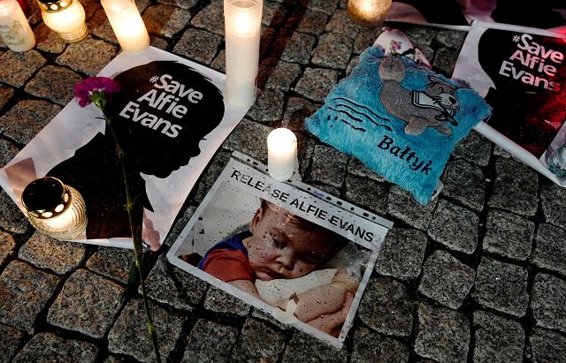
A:
[[[138,1],[152,44],[224,72],[222,2]],[[0,166],[72,100],[73,86],[119,52],[104,12],[82,0],[90,35],[65,44],[32,17],[37,46],[0,47]],[[262,93],[189,196],[167,246],[233,150],[266,161],[274,127],[298,133],[302,178],[394,221],[345,346],[337,351],[149,256],[161,352],[171,362],[564,362],[566,189],[471,132],[426,206],[314,139],[302,118],[379,34],[346,0],[265,0]],[[36,9],[36,7],[35,7]],[[401,25],[450,76],[464,32]],[[152,361],[131,251],[37,234],[0,193],[0,360]]]

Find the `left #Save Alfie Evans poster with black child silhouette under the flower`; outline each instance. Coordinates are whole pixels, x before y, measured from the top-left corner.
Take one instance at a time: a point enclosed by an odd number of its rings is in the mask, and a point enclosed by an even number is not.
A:
[[[120,53],[98,76],[119,82],[106,111],[124,149],[146,248],[163,244],[197,178],[248,109],[226,102],[226,76],[149,47]],[[133,248],[124,178],[116,147],[94,104],[69,102],[18,155],[0,170],[0,185],[21,205],[35,178],[53,176],[71,185],[87,204],[87,231],[80,242]]]

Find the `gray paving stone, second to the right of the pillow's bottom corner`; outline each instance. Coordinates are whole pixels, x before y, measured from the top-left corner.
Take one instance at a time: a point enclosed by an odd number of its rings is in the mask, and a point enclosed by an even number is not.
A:
[[[496,178],[488,205],[507,209],[521,216],[534,216],[539,204],[539,175],[535,170],[511,159],[498,157]]]

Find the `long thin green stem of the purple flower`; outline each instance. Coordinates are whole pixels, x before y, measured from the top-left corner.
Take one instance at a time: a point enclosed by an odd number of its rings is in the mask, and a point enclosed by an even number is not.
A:
[[[103,110],[103,109],[102,109]],[[142,229],[137,228],[134,229],[134,216],[132,216],[132,209],[134,207],[134,203],[132,202],[132,197],[130,195],[130,187],[127,182],[126,176],[126,163],[124,163],[124,150],[120,147],[120,143],[118,140],[118,136],[116,132],[114,132],[114,127],[112,127],[111,117],[107,116],[106,113],[103,112],[104,120],[106,120],[106,125],[111,131],[112,138],[114,139],[114,143],[116,144],[116,152],[118,154],[118,159],[120,166],[122,168],[122,176],[124,177],[124,186],[126,187],[126,211],[127,217],[130,221],[130,232],[132,233],[132,239],[134,240],[134,264],[135,268],[138,271],[138,276],[140,276],[140,285],[142,287],[142,297],[143,297],[143,311],[145,313],[145,319],[148,322],[148,333],[149,337],[151,337],[151,342],[153,344],[153,349],[156,353],[156,360],[157,363],[161,363],[161,354],[159,353],[159,344],[157,342],[157,329],[153,323],[153,317],[151,316],[151,312],[149,310],[149,300],[148,295],[145,290],[145,279],[142,275]]]

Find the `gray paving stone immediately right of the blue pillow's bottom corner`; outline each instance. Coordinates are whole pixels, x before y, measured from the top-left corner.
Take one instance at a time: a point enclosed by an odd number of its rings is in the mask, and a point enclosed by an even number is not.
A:
[[[463,159],[451,160],[447,163],[440,180],[444,183],[442,194],[477,212],[483,210],[486,200],[486,178],[477,165]]]

